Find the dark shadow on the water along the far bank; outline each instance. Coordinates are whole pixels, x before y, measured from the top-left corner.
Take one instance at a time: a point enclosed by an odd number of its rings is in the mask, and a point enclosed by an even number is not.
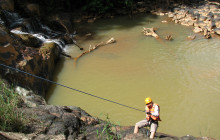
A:
[[[95,23],[80,23],[76,24],[75,27],[78,32],[78,37],[83,41],[102,39],[103,36],[97,35],[99,31],[108,30],[130,30],[136,26],[146,25],[146,23],[155,22],[158,16],[149,13],[137,14],[132,17],[130,16],[118,16],[112,19],[98,19]],[[94,26],[94,24],[96,26]],[[98,25],[98,26],[97,26]],[[90,36],[86,36],[87,34]]]

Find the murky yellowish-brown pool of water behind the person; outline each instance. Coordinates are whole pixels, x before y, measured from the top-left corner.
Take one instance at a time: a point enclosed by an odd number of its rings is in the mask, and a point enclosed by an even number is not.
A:
[[[161,23],[165,17],[118,17],[78,25],[78,43],[88,49],[111,37],[117,43],[103,46],[78,59],[63,58],[54,80],[100,97],[144,110],[148,96],[161,108],[159,132],[177,136],[209,136],[220,139],[220,38],[192,35],[191,28]],[[142,27],[158,27],[164,38],[144,36]],[[92,36],[85,37],[86,33]],[[83,36],[84,35],[84,36]],[[68,47],[72,56],[79,48]],[[104,114],[121,125],[134,125],[145,114],[102,101],[60,86],[52,86],[49,104],[79,106],[93,116]]]

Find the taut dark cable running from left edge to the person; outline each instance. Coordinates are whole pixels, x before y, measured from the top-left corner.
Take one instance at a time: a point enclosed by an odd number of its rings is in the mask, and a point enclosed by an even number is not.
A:
[[[60,83],[57,83],[57,82],[54,82],[54,81],[51,81],[51,80],[42,78],[42,77],[40,77],[40,76],[33,75],[33,74],[31,74],[31,73],[28,73],[28,72],[19,70],[19,69],[14,68],[14,67],[10,67],[10,66],[7,66],[7,65],[4,65],[4,64],[1,64],[1,63],[0,63],[0,65],[3,66],[3,67],[7,67],[7,68],[9,68],[9,69],[13,69],[13,70],[15,70],[15,71],[19,71],[19,72],[21,72],[21,73],[24,73],[24,74],[33,76],[33,77],[38,78],[38,79],[41,79],[41,80],[44,80],[44,81],[47,81],[47,82],[50,82],[50,83],[53,83],[53,84],[56,84],[56,85],[59,85],[59,86],[62,86],[62,87],[71,89],[71,90],[75,90],[75,91],[77,91],[77,92],[80,92],[80,93],[83,93],[83,94],[92,96],[92,97],[94,97],[94,98],[99,98],[99,99],[101,99],[101,100],[105,100],[105,101],[108,101],[108,102],[111,102],[111,103],[114,103],[114,104],[117,104],[117,105],[120,105],[120,106],[124,106],[124,107],[130,108],[130,109],[136,110],[136,111],[145,112],[145,111],[143,111],[143,110],[140,110],[140,109],[137,109],[137,108],[128,106],[128,105],[124,105],[124,104],[121,104],[121,103],[118,103],[118,102],[115,102],[115,101],[112,101],[112,100],[109,100],[109,99],[106,99],[106,98],[102,98],[102,97],[99,97],[99,96],[96,96],[96,95],[93,95],[93,94],[90,94],[90,93],[87,93],[87,92],[84,92],[84,91],[81,91],[81,90],[78,90],[78,89],[75,89],[75,88],[72,88],[72,87],[69,87],[69,86],[65,86],[65,85],[63,85],[63,84],[60,84]]]

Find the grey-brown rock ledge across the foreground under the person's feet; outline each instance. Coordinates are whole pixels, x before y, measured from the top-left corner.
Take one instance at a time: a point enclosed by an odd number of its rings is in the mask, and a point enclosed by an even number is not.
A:
[[[23,99],[19,110],[25,114],[29,123],[25,134],[0,131],[2,140],[148,139],[146,128],[140,129],[139,134],[135,135],[133,134],[134,126],[118,126],[112,124],[109,119],[100,120],[90,116],[79,107],[46,105],[42,97],[21,87],[16,87],[16,92]],[[210,138],[193,136],[179,138],[157,132],[155,139],[209,140]]]

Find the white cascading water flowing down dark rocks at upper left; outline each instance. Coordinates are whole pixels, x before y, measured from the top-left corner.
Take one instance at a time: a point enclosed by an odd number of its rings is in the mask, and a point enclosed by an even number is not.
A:
[[[3,11],[2,17],[4,18],[5,24],[11,29],[11,33],[20,35],[32,35],[42,42],[54,42],[64,52],[66,51],[65,42],[60,39],[64,33],[59,31],[51,30],[49,27],[41,24],[37,18],[22,18],[18,13]],[[0,19],[0,23],[4,24],[4,21]],[[20,28],[17,28],[20,27]],[[65,34],[67,35],[67,34]],[[69,37],[74,42],[74,34],[69,34]]]

